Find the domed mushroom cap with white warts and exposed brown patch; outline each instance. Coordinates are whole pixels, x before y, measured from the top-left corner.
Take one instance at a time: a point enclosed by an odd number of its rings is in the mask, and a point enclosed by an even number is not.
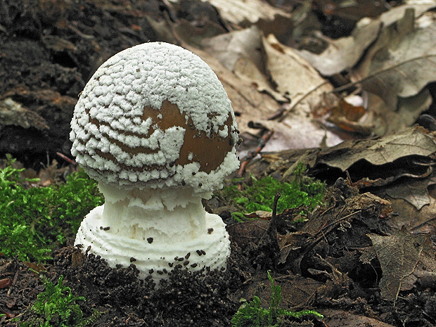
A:
[[[76,161],[113,186],[212,191],[239,165],[224,87],[203,60],[172,44],[139,44],[103,63],[71,127]]]

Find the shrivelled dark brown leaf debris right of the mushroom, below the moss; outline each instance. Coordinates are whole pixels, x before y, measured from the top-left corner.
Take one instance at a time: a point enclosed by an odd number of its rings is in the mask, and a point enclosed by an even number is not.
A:
[[[354,194],[355,188],[344,186],[347,191],[333,192],[331,201],[334,203],[339,194],[347,194],[345,203],[315,210],[300,231],[277,236],[280,267],[301,274],[302,260],[315,247],[326,253],[331,251],[331,244],[335,244],[336,250],[363,247],[370,245],[366,237],[368,231],[385,232],[387,226],[383,217],[392,212],[390,202],[371,193]],[[359,222],[359,228],[354,228],[354,222]]]

